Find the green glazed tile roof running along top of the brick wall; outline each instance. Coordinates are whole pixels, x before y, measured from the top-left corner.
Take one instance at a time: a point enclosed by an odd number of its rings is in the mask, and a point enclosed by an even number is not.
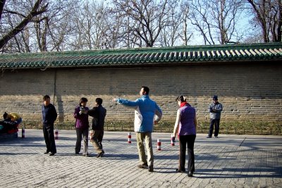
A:
[[[0,56],[0,68],[72,68],[281,60],[282,44],[264,43],[5,54]]]

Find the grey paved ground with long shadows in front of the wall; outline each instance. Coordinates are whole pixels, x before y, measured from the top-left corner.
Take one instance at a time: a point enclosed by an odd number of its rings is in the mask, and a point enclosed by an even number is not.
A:
[[[0,187],[282,187],[282,137],[197,134],[194,177],[176,173],[178,144],[168,133],[154,133],[154,172],[138,169],[133,133],[105,132],[103,158],[74,154],[75,131],[59,131],[56,156],[46,150],[41,130],[25,139],[0,142]],[[161,151],[157,151],[161,139]]]

